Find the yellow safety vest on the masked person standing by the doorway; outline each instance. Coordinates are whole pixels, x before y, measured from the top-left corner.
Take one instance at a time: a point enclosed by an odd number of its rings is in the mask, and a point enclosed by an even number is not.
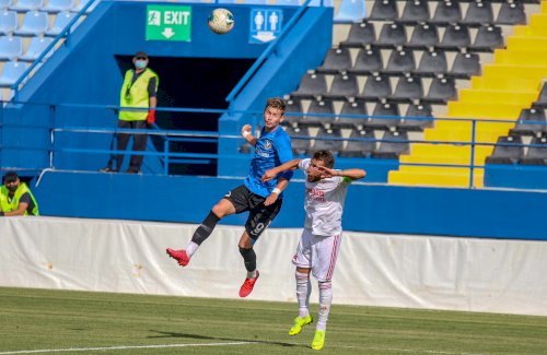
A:
[[[121,92],[119,93],[119,106],[120,107],[144,107],[144,110],[120,110],[119,119],[124,121],[142,121],[147,119],[149,103],[148,95],[148,84],[150,79],[155,78],[155,90],[160,83],[160,78],[151,69],[147,68],[140,74],[135,83],[133,70],[126,71],[126,76],[124,79],[124,85],[121,85]]]

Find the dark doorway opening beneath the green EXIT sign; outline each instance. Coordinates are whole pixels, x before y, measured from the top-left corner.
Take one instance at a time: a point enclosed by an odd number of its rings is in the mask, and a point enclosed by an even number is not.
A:
[[[123,73],[132,68],[132,57],[116,57]],[[158,73],[158,106],[173,108],[225,109],[225,97],[253,64],[254,59],[171,58],[150,56],[150,69]],[[219,114],[156,111],[156,123],[163,130],[218,132]],[[153,137],[158,152],[164,152],[165,140]],[[216,140],[174,138],[170,152],[217,154]],[[164,162],[163,162],[164,163]],[[217,175],[217,159],[181,157],[171,159],[172,175]]]

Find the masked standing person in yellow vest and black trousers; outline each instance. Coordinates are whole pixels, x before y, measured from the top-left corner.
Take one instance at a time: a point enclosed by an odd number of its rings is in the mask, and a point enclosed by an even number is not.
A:
[[[139,51],[133,59],[135,69],[126,72],[124,85],[119,95],[119,116],[118,128],[128,129],[147,129],[147,123],[155,122],[155,107],[158,104],[156,93],[160,79],[155,72],[148,68],[149,59],[146,52]],[[130,110],[124,107],[131,108]],[[140,108],[140,109],[137,109]],[[123,152],[126,150],[129,142],[129,133],[117,133],[116,150]],[[147,134],[133,135],[133,152],[142,152],[147,149]],[[140,174],[142,165],[142,155],[131,155],[127,174]],[[114,166],[114,162],[116,165]],[[102,173],[118,173],[124,163],[124,154],[112,155]]]

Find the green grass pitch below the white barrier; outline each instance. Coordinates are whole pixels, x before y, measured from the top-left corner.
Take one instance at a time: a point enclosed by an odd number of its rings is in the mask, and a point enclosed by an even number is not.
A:
[[[236,291],[234,291],[236,292]],[[252,298],[252,296],[251,296]],[[342,306],[325,347],[296,304],[0,287],[4,354],[547,354],[547,317]],[[317,306],[312,307],[316,317]]]

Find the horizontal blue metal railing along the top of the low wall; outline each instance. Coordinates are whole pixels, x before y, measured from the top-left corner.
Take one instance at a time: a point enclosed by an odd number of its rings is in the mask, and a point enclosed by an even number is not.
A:
[[[30,104],[30,103],[12,103],[15,105],[19,104]],[[40,104],[33,104],[40,105]],[[70,104],[60,104],[60,105],[46,105],[49,115],[56,115],[59,108],[67,107],[78,107],[82,109],[89,110],[90,108],[101,108],[104,110],[119,110],[118,106],[104,106],[104,105],[70,105]],[[124,108],[126,109],[126,108]],[[218,114],[221,115],[248,115],[248,116],[258,116],[261,115],[261,111],[258,110],[230,110],[230,109],[207,109],[207,108],[163,108],[158,107],[158,111],[173,111],[173,113],[195,113],[195,114]],[[292,114],[288,113],[287,116],[305,116],[304,114]],[[364,142],[391,142],[391,143],[426,143],[426,144],[451,144],[451,145],[459,145],[459,146],[470,146],[470,156],[469,164],[424,164],[424,163],[399,163],[400,166],[435,166],[435,167],[455,167],[455,168],[464,168],[469,169],[469,188],[474,188],[474,176],[476,169],[485,168],[484,164],[475,164],[475,155],[477,146],[527,146],[527,147],[546,147],[544,144],[519,144],[519,143],[488,143],[488,142],[479,142],[477,141],[477,123],[488,122],[488,123],[508,123],[511,121],[508,120],[486,120],[486,119],[470,119],[470,118],[430,118],[430,117],[393,117],[393,116],[359,116],[359,115],[328,115],[328,114],[313,114],[313,116],[325,117],[330,119],[336,119],[337,117],[344,118],[356,118],[356,119],[415,119],[415,120],[426,120],[426,121],[466,121],[470,125],[470,134],[468,140],[463,141],[424,141],[424,140],[411,140],[411,139],[376,139],[376,138],[318,138],[318,137],[293,137],[293,140],[328,140],[328,141],[364,141]],[[49,122],[55,122],[55,117],[48,120]],[[544,131],[547,131],[547,123],[543,121],[514,121],[515,123],[526,123],[526,125],[542,125],[545,126]],[[168,174],[170,164],[183,163],[183,164],[208,164],[213,159],[248,159],[251,152],[244,153],[223,153],[218,151],[217,153],[179,153],[171,151],[170,143],[172,142],[197,142],[197,143],[217,143],[220,138],[224,139],[233,139],[241,141],[240,146],[244,145],[245,142],[238,134],[240,132],[234,132],[234,134],[220,134],[218,132],[211,131],[189,131],[189,130],[162,130],[158,126],[154,125],[154,129],[147,130],[121,130],[121,129],[110,129],[105,127],[78,127],[78,126],[63,126],[63,127],[37,127],[32,125],[19,125],[19,123],[7,123],[5,121],[2,123],[3,127],[9,128],[42,128],[47,129],[51,135],[51,143],[49,146],[44,147],[32,147],[32,146],[10,146],[10,145],[0,145],[0,150],[2,149],[18,149],[18,150],[37,150],[47,152],[50,155],[50,166],[49,168],[55,169],[55,161],[56,154],[60,153],[70,153],[70,154],[125,154],[126,152],[116,151],[113,149],[86,149],[86,147],[68,147],[68,146],[56,146],[56,135],[61,133],[84,133],[84,134],[115,134],[115,133],[144,133],[152,137],[160,137],[163,139],[163,152],[158,152],[153,147],[153,145],[149,144],[149,151],[142,152],[142,155],[146,156],[158,156],[163,164],[163,174]],[[547,151],[547,149],[546,149]],[[139,154],[141,154],[139,152]],[[547,156],[546,156],[547,158]],[[382,159],[370,159],[371,164],[374,164],[374,161],[381,162]],[[16,168],[16,167],[14,167]],[[519,168],[523,168],[523,166],[519,166]],[[27,170],[27,168],[25,168]],[[547,171],[546,171],[547,173]]]

